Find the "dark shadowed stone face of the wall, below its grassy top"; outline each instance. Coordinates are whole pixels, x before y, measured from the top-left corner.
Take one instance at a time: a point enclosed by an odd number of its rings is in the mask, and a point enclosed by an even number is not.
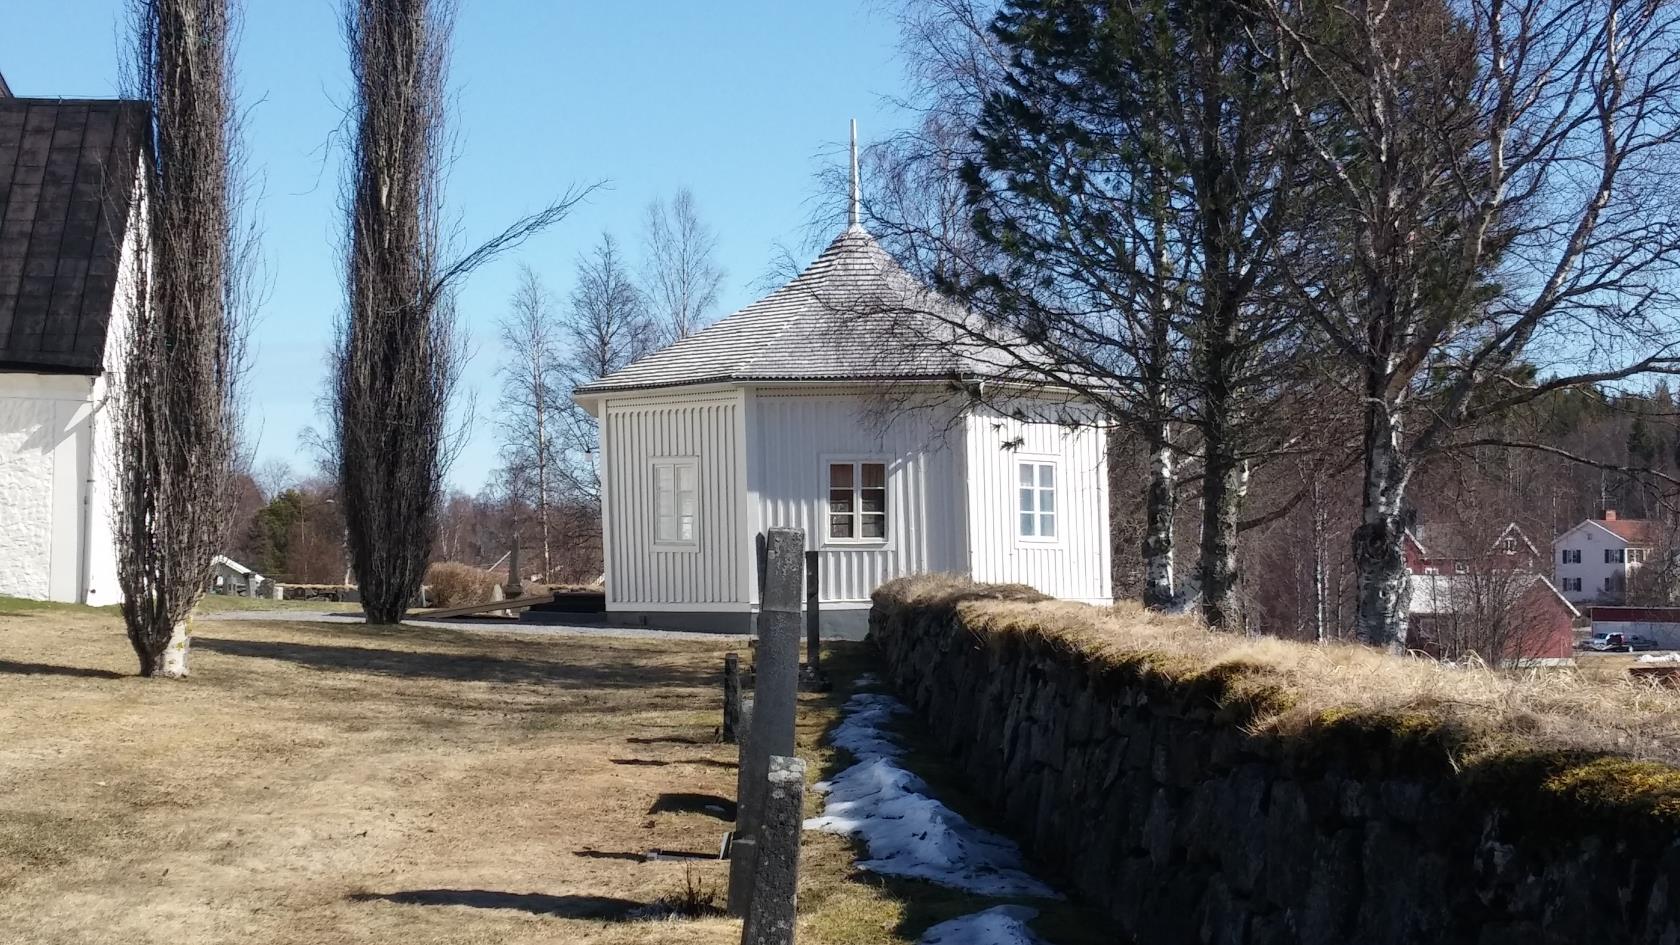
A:
[[[1680,942],[1680,810],[1559,790],[1579,758],[1467,772],[1352,716],[1255,733],[1220,673],[963,615],[1025,589],[900,590],[870,612],[897,693],[1035,859],[1141,945]]]

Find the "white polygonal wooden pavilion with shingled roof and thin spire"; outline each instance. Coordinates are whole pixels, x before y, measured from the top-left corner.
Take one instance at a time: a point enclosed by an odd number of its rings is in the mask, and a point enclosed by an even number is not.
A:
[[[964,313],[858,225],[798,277],[575,392],[600,420],[615,624],[746,632],[756,540],[803,528],[827,627],[894,577],[949,572],[1110,602],[1094,407],[958,340]]]

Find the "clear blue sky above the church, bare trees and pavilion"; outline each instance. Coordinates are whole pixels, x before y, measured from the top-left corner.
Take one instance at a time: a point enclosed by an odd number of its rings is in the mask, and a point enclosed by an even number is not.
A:
[[[346,62],[331,0],[245,0],[239,71],[267,284],[254,331],[250,427],[259,462],[311,466],[299,434],[341,303],[339,153]],[[0,72],[20,96],[113,96],[123,0],[5,0]],[[450,219],[464,242],[494,234],[573,183],[608,182],[554,230],[480,269],[460,294],[474,338],[467,387],[477,424],[455,486],[496,464],[496,319],[519,262],[564,296],[573,261],[603,229],[637,251],[643,207],[694,190],[727,269],[719,313],[764,288],[778,247],[811,256],[816,173],[860,136],[904,123],[897,32],[874,0],[462,0],[450,87],[457,161]],[[838,209],[837,209],[838,212]]]

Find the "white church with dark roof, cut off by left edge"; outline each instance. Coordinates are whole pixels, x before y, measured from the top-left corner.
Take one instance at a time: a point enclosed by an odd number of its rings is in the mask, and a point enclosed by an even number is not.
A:
[[[121,599],[108,338],[136,254],[144,106],[0,82],[0,594]]]

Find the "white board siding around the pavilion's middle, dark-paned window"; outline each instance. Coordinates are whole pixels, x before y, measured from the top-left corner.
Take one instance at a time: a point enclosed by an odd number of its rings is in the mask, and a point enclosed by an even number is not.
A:
[[[822,599],[828,602],[869,600],[899,575],[968,567],[963,425],[941,409],[899,414],[882,429],[867,415],[869,404],[857,393],[753,395],[751,528],[803,528],[806,548],[822,552]],[[887,462],[885,546],[823,545],[828,457]]]

